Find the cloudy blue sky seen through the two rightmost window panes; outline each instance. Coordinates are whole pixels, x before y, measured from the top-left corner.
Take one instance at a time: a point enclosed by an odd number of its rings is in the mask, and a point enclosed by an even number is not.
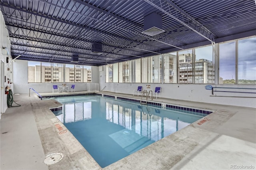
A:
[[[236,42],[220,44],[220,77],[235,79]],[[256,38],[238,40],[238,79],[256,80]]]

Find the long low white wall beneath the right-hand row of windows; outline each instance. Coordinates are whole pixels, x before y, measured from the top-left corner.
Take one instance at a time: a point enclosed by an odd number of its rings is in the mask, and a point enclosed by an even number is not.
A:
[[[106,67],[103,66],[105,70]],[[100,90],[106,86],[104,91],[111,91],[116,93],[133,94],[134,89],[142,86],[143,90],[146,85],[150,85],[150,89],[154,92],[155,87],[162,87],[160,97],[168,99],[178,99],[186,101],[195,101],[203,103],[214,103],[220,105],[234,105],[242,107],[256,108],[256,98],[246,97],[211,97],[212,91],[206,90],[205,86],[208,84],[168,84],[168,83],[105,83],[105,72],[100,71]],[[215,87],[215,85],[212,85]],[[239,87],[239,88],[256,88],[255,85],[218,85],[218,87]],[[225,89],[222,89],[225,90]],[[214,93],[215,95],[215,93]],[[220,93],[218,95],[227,95],[227,93]],[[247,96],[255,97],[255,94],[246,93],[228,93],[229,96]]]

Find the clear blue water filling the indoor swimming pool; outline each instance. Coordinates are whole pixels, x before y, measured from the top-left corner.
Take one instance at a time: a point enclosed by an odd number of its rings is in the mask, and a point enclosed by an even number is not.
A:
[[[59,97],[53,111],[104,168],[201,119],[195,115],[99,96]]]

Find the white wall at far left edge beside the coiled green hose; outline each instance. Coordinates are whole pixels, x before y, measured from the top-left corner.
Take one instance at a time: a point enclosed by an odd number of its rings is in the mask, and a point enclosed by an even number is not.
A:
[[[4,47],[7,47],[7,50],[11,51],[10,41],[8,39],[8,30],[6,29],[6,25],[4,22],[4,18],[2,15],[2,12],[0,12],[0,85],[1,85],[1,91],[0,91],[0,105],[1,105],[1,113],[4,113],[7,109],[7,95],[5,94],[5,87],[8,85],[13,90],[13,86],[11,84],[12,82],[12,64],[10,60],[12,59],[11,55],[6,55],[5,50],[3,50]],[[9,62],[6,62],[6,57],[8,57]],[[6,81],[4,79],[6,77]],[[8,83],[9,79],[9,83]],[[0,117],[1,118],[1,117]]]

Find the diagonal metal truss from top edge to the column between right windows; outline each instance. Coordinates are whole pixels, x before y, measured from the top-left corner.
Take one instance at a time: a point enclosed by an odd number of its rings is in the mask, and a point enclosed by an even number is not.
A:
[[[210,42],[214,42],[216,36],[206,29],[202,24],[197,22],[194,18],[189,16],[186,12],[180,9],[176,4],[174,4],[171,0],[144,0],[148,2],[148,4],[154,6],[158,10],[164,12],[168,16],[172,17],[174,20],[177,20],[190,30],[196,32],[200,36],[204,37],[206,40]]]

